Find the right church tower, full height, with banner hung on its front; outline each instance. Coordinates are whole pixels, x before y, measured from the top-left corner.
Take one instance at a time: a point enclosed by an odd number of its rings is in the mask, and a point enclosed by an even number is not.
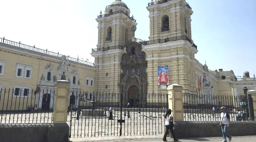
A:
[[[191,40],[191,7],[185,0],[148,3],[150,41],[144,46],[148,61],[148,92],[167,93],[158,83],[158,66],[168,65],[169,85],[177,83],[183,91],[195,88],[194,58],[197,46]]]

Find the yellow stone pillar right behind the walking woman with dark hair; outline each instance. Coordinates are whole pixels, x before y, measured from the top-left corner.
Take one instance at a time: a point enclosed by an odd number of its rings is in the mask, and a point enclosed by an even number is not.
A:
[[[172,110],[175,122],[183,121],[182,86],[178,84],[169,85],[168,88],[169,109]]]

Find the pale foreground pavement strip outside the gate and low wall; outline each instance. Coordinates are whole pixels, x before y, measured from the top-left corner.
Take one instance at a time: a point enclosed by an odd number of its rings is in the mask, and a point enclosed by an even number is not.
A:
[[[162,142],[163,135],[147,135],[147,136],[122,136],[122,137],[87,137],[87,138],[71,138],[70,142],[92,142],[92,141],[102,141],[102,142]],[[173,141],[172,138],[167,138],[167,141]],[[196,141],[222,141],[222,137],[204,137],[204,138],[186,138],[179,139],[181,142],[196,142]],[[232,142],[255,142],[256,135],[254,136],[238,136],[232,137]]]

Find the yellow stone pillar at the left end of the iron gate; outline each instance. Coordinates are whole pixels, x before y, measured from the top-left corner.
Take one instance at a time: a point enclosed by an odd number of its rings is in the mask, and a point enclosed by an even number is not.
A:
[[[66,80],[58,80],[56,83],[53,105],[53,123],[67,123],[69,86],[70,82]]]

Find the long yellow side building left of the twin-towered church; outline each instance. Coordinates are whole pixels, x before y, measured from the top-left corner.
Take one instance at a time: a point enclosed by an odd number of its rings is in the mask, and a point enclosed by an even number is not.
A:
[[[57,80],[70,81],[69,105],[78,108],[94,76],[94,63],[0,38],[0,110],[52,109]]]

